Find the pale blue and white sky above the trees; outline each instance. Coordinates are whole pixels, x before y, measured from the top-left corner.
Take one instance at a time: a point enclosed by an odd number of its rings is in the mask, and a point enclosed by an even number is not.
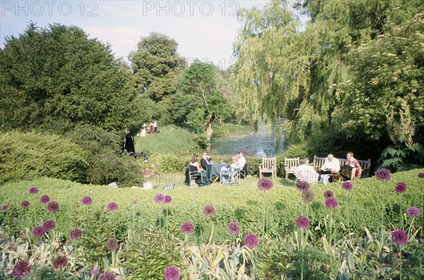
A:
[[[241,26],[237,11],[260,8],[268,2],[0,0],[0,47],[4,47],[6,36],[18,37],[23,33],[30,21],[42,28],[61,23],[76,25],[88,33],[89,38],[109,43],[115,57],[128,61],[128,54],[136,50],[141,37],[158,32],[177,41],[177,52],[189,64],[199,59],[227,69],[235,62],[232,44]]]

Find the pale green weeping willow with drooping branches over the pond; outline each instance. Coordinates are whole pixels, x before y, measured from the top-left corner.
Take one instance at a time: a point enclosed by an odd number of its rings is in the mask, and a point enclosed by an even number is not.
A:
[[[347,33],[324,22],[308,23],[300,32],[300,21],[285,1],[241,10],[239,19],[233,76],[238,114],[263,117],[268,124],[283,117],[290,143],[337,122],[336,86],[346,78],[340,46],[350,43]]]

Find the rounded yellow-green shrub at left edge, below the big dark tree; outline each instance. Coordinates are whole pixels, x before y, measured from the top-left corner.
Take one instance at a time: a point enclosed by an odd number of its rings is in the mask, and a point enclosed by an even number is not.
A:
[[[84,182],[88,153],[57,135],[7,132],[0,137],[0,182],[48,176]]]

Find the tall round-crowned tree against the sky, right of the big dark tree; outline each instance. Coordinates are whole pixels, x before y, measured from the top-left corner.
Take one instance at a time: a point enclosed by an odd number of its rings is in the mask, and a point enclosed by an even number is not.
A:
[[[129,54],[134,86],[146,97],[158,102],[177,91],[179,75],[186,66],[177,53],[177,41],[160,33],[142,37],[138,49]]]

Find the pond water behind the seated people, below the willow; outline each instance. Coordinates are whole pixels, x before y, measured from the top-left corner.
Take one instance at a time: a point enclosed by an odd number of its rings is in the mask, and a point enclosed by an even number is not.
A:
[[[272,129],[271,129],[272,130]],[[233,155],[244,151],[246,156],[266,157],[276,156],[281,153],[279,148],[274,147],[274,134],[269,134],[266,124],[259,124],[258,131],[230,132],[218,135],[211,140],[211,154]]]

